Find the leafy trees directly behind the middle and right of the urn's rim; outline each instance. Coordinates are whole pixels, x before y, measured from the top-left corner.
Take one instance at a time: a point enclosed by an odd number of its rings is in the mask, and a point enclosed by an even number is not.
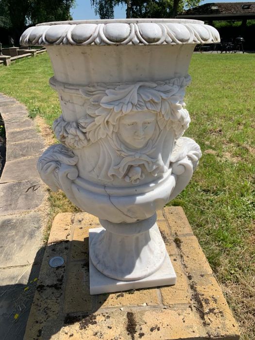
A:
[[[176,17],[185,6],[197,6],[201,0],[91,0],[95,14],[101,19],[113,19],[114,7],[121,4],[126,7],[127,18],[168,18]]]

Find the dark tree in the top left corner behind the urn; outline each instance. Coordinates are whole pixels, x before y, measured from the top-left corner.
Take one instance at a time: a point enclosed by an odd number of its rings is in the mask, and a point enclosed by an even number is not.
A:
[[[70,20],[75,0],[0,0],[0,27],[17,43],[27,26],[45,21]]]

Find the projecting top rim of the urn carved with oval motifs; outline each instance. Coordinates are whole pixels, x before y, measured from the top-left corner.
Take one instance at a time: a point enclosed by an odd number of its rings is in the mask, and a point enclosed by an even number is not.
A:
[[[177,45],[220,42],[218,31],[212,26],[204,25],[203,21],[176,22],[171,19],[162,22],[123,21],[50,23],[30,27],[21,35],[20,45]]]

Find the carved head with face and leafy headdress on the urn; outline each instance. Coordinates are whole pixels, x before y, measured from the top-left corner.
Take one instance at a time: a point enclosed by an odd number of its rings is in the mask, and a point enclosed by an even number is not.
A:
[[[84,87],[80,92],[90,105],[86,116],[78,121],[79,128],[89,142],[118,136],[122,145],[133,150],[144,148],[150,139],[155,142],[154,137],[165,127],[176,130],[179,137],[189,123],[187,110],[183,108],[188,81],[187,77],[166,82]]]

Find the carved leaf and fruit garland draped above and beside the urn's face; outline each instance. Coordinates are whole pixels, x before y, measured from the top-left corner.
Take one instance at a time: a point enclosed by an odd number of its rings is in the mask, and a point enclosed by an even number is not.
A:
[[[190,122],[183,102],[189,82],[187,76],[165,82],[100,83],[82,87],[80,94],[90,102],[85,117],[66,122],[61,115],[54,121],[53,130],[61,143],[71,149],[81,149],[106,136],[112,138],[118,131],[119,118],[129,112],[154,111],[159,128],[172,128],[177,139]]]

